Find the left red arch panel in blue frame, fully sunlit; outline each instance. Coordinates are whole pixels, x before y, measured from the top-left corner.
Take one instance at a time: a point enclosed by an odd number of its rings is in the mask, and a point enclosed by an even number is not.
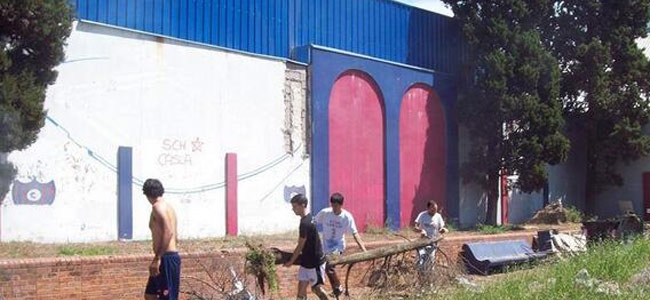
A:
[[[329,100],[329,186],[340,192],[359,230],[383,226],[385,216],[384,110],[374,80],[347,71]],[[328,199],[329,202],[329,199]]]

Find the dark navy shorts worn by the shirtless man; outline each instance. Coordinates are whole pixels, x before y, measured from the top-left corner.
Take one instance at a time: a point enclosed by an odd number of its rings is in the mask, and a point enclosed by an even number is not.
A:
[[[177,300],[181,281],[181,257],[178,252],[167,252],[160,258],[160,274],[149,276],[144,293],[158,299]]]

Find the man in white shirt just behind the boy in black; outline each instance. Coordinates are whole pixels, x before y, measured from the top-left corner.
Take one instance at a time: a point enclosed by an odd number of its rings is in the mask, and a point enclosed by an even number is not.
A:
[[[316,227],[323,238],[323,252],[325,255],[341,254],[345,251],[345,234],[350,233],[359,248],[366,251],[366,246],[357,231],[354,217],[347,210],[343,209],[343,195],[334,193],[330,197],[330,207],[324,208],[316,215]],[[336,275],[334,267],[327,267],[325,270],[327,278],[334,290],[334,296],[341,295],[341,281]]]

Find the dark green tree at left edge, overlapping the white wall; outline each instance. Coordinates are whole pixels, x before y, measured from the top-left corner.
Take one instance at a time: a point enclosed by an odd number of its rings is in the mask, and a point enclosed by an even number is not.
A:
[[[56,80],[71,24],[67,0],[0,0],[0,152],[36,141],[45,91]],[[0,199],[14,175],[13,166],[0,161]]]

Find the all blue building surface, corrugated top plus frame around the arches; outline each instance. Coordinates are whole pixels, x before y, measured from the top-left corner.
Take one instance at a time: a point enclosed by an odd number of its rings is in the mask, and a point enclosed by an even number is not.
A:
[[[446,116],[447,213],[459,218],[453,112],[464,49],[456,20],[390,0],[70,2],[81,20],[310,64],[315,209],[327,206],[329,198],[327,103],[332,84],[348,69],[372,76],[386,101],[386,221],[392,228],[400,222],[400,103],[413,84],[431,86]]]

